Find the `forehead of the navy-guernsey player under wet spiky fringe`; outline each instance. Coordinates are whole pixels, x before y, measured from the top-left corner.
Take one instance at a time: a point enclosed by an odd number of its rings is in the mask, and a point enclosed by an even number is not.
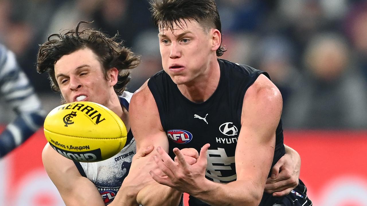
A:
[[[160,22],[159,34],[180,34],[183,32],[198,33],[203,32],[203,26],[195,19],[180,19],[175,22]]]

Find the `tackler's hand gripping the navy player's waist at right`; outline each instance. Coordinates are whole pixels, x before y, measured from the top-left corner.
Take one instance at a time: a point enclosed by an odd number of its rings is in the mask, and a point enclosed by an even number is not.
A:
[[[273,193],[273,196],[289,194],[299,184],[300,167],[300,159],[294,160],[292,155],[285,154],[273,166],[271,176],[266,180],[265,192]]]

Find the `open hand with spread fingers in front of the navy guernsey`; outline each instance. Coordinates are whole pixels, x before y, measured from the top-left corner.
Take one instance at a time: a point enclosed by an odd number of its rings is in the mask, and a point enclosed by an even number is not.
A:
[[[200,191],[199,185],[203,185],[206,181],[205,170],[209,147],[210,144],[205,144],[201,148],[200,155],[193,165],[189,165],[185,161],[184,155],[178,148],[173,149],[177,157],[177,161],[174,162],[164,150],[158,147],[157,151],[159,155],[154,155],[154,160],[159,169],[166,174],[167,177],[160,177],[153,171],[149,173],[157,183],[167,185],[181,192],[196,194]]]

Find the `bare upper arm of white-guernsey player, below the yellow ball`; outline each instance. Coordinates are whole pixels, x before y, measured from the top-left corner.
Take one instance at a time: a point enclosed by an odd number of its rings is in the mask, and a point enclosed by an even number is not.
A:
[[[44,168],[66,205],[104,206],[95,185],[80,175],[74,162],[47,144],[42,151]]]

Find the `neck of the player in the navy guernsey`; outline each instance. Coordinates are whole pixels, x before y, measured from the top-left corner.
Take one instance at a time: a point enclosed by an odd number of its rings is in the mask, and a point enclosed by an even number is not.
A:
[[[177,85],[179,91],[192,102],[202,103],[208,100],[218,87],[221,71],[217,56],[208,64],[203,74],[187,84]]]

